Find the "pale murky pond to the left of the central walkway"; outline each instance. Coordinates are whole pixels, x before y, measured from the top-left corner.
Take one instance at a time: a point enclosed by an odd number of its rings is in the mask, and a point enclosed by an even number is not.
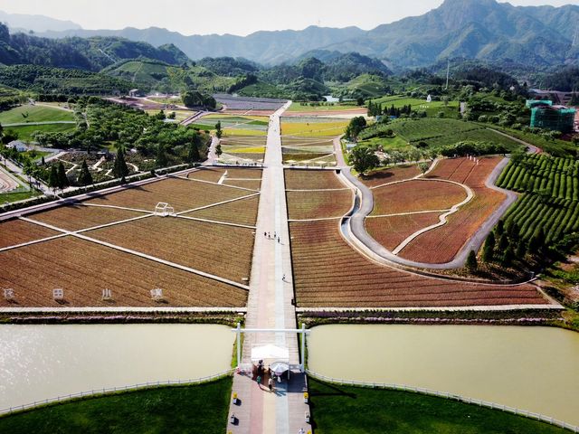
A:
[[[0,325],[0,409],[230,368],[224,325]]]

